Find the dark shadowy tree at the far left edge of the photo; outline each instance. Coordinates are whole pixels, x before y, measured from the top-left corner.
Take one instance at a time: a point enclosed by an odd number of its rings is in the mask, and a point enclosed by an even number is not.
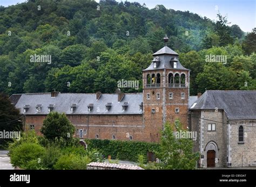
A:
[[[22,131],[23,117],[19,110],[11,104],[8,96],[0,93],[0,131]],[[10,139],[0,139],[0,146],[5,146]]]

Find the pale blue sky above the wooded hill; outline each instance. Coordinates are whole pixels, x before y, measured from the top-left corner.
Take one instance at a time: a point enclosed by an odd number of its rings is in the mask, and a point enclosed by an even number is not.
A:
[[[21,2],[25,0],[0,0],[0,5],[8,6]],[[167,9],[188,10],[212,20],[217,19],[219,10],[221,15],[228,16],[230,25],[237,24],[245,32],[251,32],[252,28],[256,27],[256,0],[130,0],[130,2],[145,3],[150,9],[162,4]]]

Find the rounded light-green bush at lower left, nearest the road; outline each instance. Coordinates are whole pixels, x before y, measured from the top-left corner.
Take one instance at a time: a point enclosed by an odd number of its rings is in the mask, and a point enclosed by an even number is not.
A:
[[[10,154],[12,166],[26,168],[26,164],[32,160],[41,160],[45,154],[45,148],[37,143],[22,143],[14,147]]]

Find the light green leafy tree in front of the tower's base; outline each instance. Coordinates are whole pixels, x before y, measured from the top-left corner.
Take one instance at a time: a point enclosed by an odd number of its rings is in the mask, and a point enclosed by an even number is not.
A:
[[[175,133],[186,133],[179,121],[174,131],[174,124],[164,124],[161,132],[160,150],[156,153],[160,169],[194,169],[199,153],[193,152],[193,140],[177,138]]]

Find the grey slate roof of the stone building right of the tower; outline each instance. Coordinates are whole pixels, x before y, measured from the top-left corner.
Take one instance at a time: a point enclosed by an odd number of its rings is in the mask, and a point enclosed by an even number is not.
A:
[[[256,90],[207,90],[190,110],[222,109],[230,120],[256,119]]]

